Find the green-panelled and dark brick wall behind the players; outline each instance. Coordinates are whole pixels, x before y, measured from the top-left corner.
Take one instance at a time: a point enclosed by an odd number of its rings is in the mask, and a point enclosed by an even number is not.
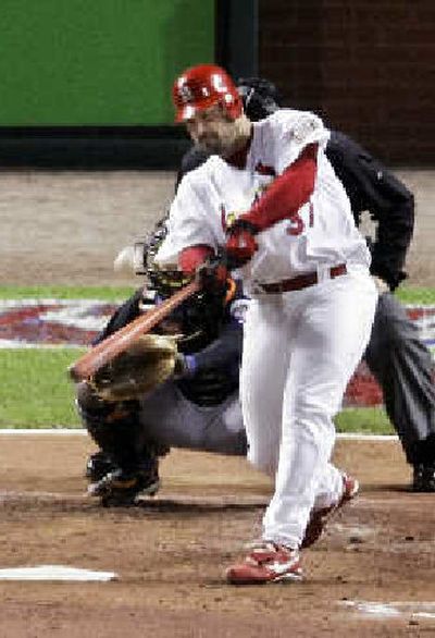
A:
[[[286,105],[321,113],[389,164],[431,167],[434,11],[431,0],[3,0],[3,159],[10,145],[11,162],[59,165],[87,137],[101,152],[84,152],[84,164],[174,168],[176,154],[163,144],[148,155],[147,140],[179,140],[173,78],[215,60],[235,76],[271,78]],[[46,147],[14,158],[14,137],[32,148],[37,134]],[[133,134],[144,152],[128,158]],[[113,135],[117,158],[107,157]],[[57,137],[62,154],[50,156]]]

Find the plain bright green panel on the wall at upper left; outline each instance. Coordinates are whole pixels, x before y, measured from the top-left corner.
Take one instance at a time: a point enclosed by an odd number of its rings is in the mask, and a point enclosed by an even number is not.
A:
[[[213,0],[2,0],[0,126],[172,123],[174,77],[214,57]]]

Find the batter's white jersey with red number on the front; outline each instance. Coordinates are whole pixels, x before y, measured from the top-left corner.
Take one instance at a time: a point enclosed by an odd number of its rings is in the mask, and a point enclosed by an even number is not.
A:
[[[182,181],[157,261],[174,262],[186,247],[225,244],[225,231],[299,157],[318,143],[314,191],[295,219],[259,233],[259,249],[241,269],[246,290],[343,262],[368,267],[370,254],[356,228],[344,186],[324,154],[330,133],[310,112],[281,109],[253,124],[245,169],[210,157]]]

